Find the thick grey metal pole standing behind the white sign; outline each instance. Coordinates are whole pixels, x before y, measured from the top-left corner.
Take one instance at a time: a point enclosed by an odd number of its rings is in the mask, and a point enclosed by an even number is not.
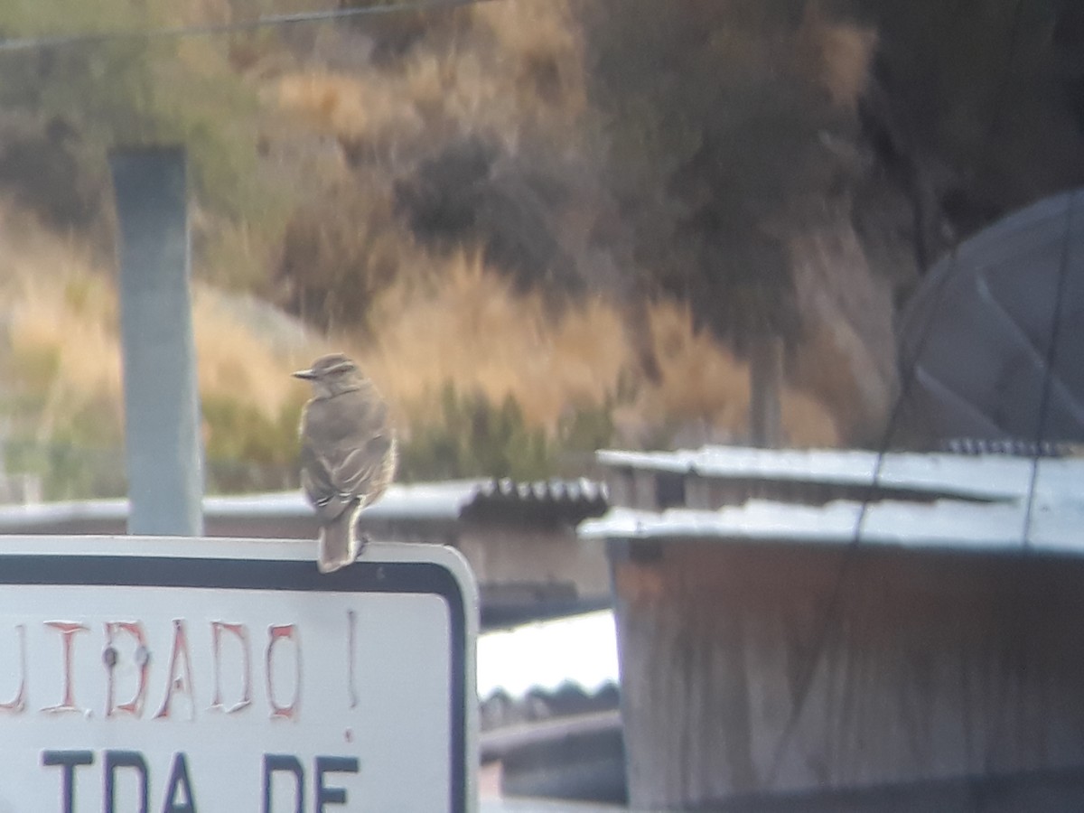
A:
[[[109,166],[120,225],[128,532],[201,535],[184,150],[119,150]]]

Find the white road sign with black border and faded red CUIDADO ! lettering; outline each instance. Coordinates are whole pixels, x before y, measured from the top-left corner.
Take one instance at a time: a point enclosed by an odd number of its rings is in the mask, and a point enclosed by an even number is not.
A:
[[[0,813],[468,813],[477,614],[438,545],[0,538]]]

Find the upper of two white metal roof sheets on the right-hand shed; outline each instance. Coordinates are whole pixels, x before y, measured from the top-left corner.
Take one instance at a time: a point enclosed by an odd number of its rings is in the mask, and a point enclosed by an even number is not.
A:
[[[1028,492],[1033,462],[1008,455],[890,452],[877,469],[877,453],[836,449],[753,449],[705,447],[674,452],[601,451],[610,468],[692,474],[706,478],[804,481],[911,490],[916,494],[990,501],[1015,500]],[[1084,483],[1084,459],[1043,459],[1044,480]],[[1076,486],[1084,490],[1084,487]]]

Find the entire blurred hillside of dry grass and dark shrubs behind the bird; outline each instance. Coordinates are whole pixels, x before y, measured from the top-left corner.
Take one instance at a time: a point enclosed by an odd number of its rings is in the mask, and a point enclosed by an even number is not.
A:
[[[1084,175],[1074,7],[982,4],[505,0],[4,52],[9,466],[121,488],[104,156],[162,141],[192,159],[212,488],[293,482],[304,391],[280,376],[328,347],[393,402],[408,477],[745,439],[776,346],[782,440],[872,442],[895,302],[956,236]],[[0,2],[0,25],[301,8]],[[292,352],[240,318],[254,297],[305,325]]]

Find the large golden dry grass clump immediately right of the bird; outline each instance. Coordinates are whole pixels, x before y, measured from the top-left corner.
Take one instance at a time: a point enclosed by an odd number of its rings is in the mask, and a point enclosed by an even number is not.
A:
[[[387,292],[373,324],[363,363],[412,413],[452,382],[493,403],[511,395],[529,423],[552,429],[569,405],[603,403],[629,360],[620,319],[602,301],[554,321],[541,297],[514,295],[468,255],[439,264],[427,281]]]

